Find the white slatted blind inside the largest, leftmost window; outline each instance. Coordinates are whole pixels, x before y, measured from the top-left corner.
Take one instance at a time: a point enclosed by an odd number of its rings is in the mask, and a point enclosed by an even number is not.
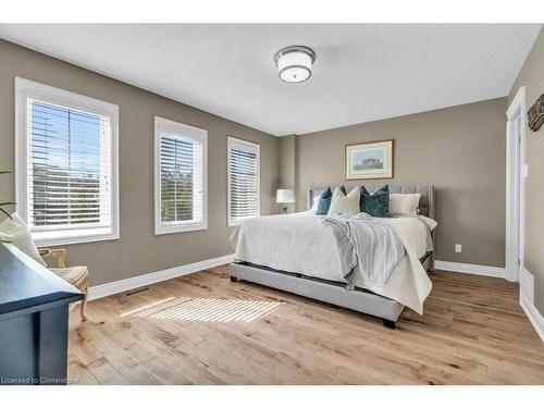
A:
[[[28,112],[30,227],[110,225],[110,119],[32,99]]]

